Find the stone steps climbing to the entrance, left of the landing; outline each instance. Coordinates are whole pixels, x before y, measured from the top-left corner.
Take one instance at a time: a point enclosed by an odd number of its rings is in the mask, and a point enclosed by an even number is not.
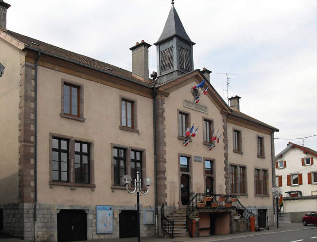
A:
[[[189,237],[186,230],[186,206],[180,206],[178,210],[170,211],[166,217],[174,220],[174,238]]]

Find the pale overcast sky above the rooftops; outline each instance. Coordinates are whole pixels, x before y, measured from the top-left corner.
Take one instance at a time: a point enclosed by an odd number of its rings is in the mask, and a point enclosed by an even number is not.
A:
[[[158,40],[170,0],[4,0],[7,29],[132,70],[130,47]],[[291,138],[317,134],[317,0],[175,0],[196,43],[194,68],[211,70],[226,100],[279,129],[275,153]],[[156,46],[149,71],[157,71]],[[317,136],[304,140],[317,150]]]

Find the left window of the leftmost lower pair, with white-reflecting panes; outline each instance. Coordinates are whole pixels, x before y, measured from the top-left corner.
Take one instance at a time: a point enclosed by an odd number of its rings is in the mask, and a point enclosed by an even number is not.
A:
[[[52,138],[53,180],[68,181],[68,140]]]

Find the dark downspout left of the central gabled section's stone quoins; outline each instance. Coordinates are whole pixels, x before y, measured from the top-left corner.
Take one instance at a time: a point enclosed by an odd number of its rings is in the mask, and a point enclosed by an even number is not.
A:
[[[156,178],[156,122],[155,122],[155,113],[156,113],[156,95],[157,89],[153,90],[153,149],[154,149],[154,200],[155,200],[155,227],[156,227],[156,235],[158,236],[158,201],[157,201],[157,178]]]

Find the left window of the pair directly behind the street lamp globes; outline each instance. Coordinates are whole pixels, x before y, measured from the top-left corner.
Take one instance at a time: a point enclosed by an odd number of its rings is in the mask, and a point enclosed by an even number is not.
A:
[[[125,149],[113,148],[114,185],[124,186],[121,177],[126,174]]]

